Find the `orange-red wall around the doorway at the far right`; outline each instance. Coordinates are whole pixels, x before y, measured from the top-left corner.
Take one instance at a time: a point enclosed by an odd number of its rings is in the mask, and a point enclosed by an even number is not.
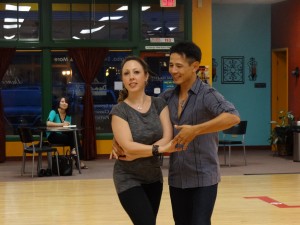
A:
[[[272,5],[272,49],[288,49],[288,110],[300,120],[300,77],[292,71],[300,68],[300,1],[287,0]],[[284,15],[284,16],[282,16]]]

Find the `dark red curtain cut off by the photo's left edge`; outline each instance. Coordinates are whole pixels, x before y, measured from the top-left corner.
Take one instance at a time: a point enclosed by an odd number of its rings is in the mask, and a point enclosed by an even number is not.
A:
[[[0,48],[0,81],[2,81],[6,70],[16,52],[15,48]],[[1,85],[2,86],[2,85]],[[3,112],[2,96],[0,91],[0,162],[6,158],[5,148],[5,120]]]

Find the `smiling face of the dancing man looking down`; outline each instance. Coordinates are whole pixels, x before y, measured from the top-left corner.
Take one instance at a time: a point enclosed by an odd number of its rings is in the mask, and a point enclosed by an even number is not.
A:
[[[188,59],[185,56],[182,56],[178,53],[172,53],[170,55],[169,62],[169,73],[173,77],[173,81],[177,85],[186,83],[195,79],[197,62],[189,63]]]

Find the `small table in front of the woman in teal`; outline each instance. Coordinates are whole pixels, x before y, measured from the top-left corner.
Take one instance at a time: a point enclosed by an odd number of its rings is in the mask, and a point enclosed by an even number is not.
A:
[[[80,156],[79,156],[79,147],[78,147],[78,138],[77,138],[77,132],[83,130],[83,128],[79,127],[35,127],[35,130],[40,132],[40,145],[43,144],[43,133],[44,132],[73,132],[74,135],[74,141],[75,141],[75,149],[77,154],[77,165],[78,165],[78,171],[81,173],[81,167],[80,167]],[[52,164],[52,156],[51,153],[47,155],[48,157],[48,165]]]

